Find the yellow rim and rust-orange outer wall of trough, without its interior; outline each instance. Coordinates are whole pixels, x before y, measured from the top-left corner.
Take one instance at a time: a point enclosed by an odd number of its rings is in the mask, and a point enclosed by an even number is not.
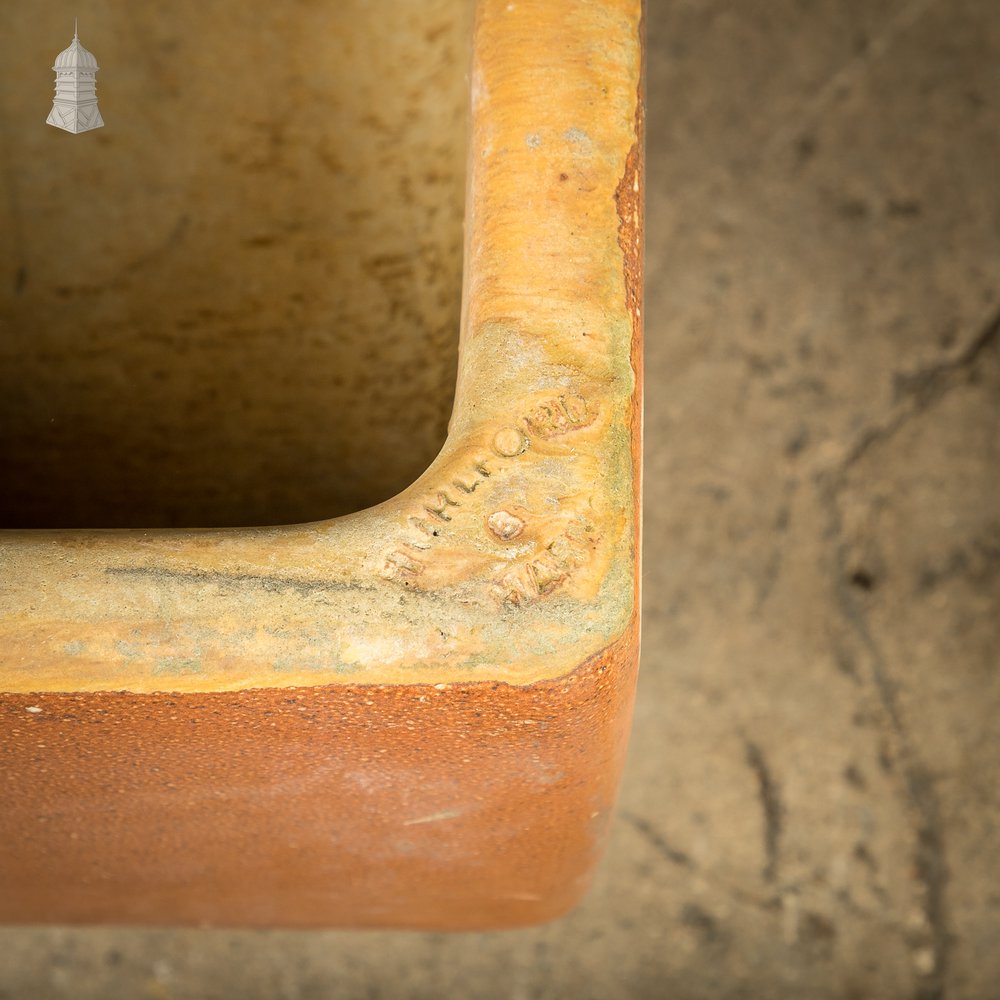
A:
[[[413,485],[291,526],[0,536],[4,920],[496,927],[579,898],[637,657],[640,32],[638,0],[477,4],[457,390]]]

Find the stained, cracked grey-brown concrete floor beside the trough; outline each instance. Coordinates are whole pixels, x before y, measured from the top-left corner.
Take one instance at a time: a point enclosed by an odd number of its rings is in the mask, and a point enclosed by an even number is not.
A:
[[[0,932],[0,998],[1000,995],[1000,4],[649,0],[645,636],[586,903]]]

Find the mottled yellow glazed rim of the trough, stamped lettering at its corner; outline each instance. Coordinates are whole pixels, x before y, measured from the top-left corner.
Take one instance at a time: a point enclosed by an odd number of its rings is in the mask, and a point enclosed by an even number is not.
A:
[[[309,524],[0,533],[0,690],[520,685],[630,633],[640,6],[477,5],[458,383],[430,468]]]

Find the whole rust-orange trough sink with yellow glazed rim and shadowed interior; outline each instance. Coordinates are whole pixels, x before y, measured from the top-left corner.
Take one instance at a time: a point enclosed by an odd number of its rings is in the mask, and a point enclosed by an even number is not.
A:
[[[81,135],[0,39],[0,920],[546,920],[635,683],[641,4],[255,6],[81,12]]]

